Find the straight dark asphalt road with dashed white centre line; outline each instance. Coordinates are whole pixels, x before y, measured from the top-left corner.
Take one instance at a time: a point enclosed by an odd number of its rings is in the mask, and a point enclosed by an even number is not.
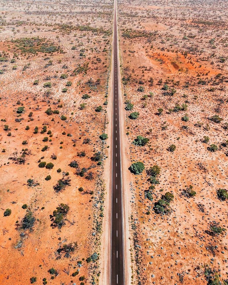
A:
[[[113,147],[112,147],[112,201],[111,201],[111,266],[110,284],[125,284],[122,176],[119,128],[119,59],[117,38],[116,0],[114,0],[113,34]]]

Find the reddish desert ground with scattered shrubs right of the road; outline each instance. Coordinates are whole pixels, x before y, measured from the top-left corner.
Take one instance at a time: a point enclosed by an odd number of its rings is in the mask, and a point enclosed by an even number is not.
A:
[[[118,12],[125,167],[143,163],[130,168],[132,284],[225,285],[226,2],[118,1]]]

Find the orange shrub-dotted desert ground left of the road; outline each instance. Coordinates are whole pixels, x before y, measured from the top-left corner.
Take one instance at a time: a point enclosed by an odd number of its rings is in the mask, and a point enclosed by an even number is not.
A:
[[[98,2],[0,2],[1,284],[97,284],[113,15]]]

